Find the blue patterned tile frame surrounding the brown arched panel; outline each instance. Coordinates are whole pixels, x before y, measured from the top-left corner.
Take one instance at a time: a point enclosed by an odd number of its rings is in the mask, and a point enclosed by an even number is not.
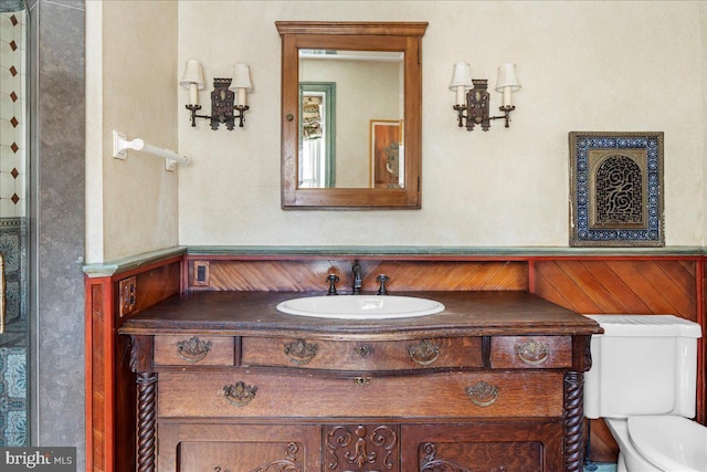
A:
[[[663,133],[572,132],[570,144],[570,245],[572,247],[664,247],[663,228]],[[642,186],[646,196],[644,228],[614,223],[592,225],[593,195],[590,153],[598,150],[640,151],[645,155]]]

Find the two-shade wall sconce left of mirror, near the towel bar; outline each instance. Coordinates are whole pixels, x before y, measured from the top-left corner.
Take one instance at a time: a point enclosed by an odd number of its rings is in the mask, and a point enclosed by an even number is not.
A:
[[[187,61],[184,74],[179,81],[179,85],[189,90],[187,109],[191,112],[192,127],[197,126],[197,118],[210,119],[211,129],[219,129],[219,125],[224,124],[226,128],[233,130],[236,119],[239,120],[239,127],[243,127],[245,111],[250,109],[246,105],[246,93],[253,90],[251,71],[246,64],[235,64],[233,66],[233,76],[230,78],[213,80],[211,115],[199,115],[197,113],[201,109],[199,91],[204,88],[203,71],[199,61]]]

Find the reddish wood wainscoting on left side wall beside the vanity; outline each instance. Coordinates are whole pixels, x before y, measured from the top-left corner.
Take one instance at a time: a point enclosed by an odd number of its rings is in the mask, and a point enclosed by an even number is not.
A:
[[[129,366],[130,343],[117,331],[119,281],[135,276],[138,315],[180,291],[181,256],[109,276],[85,277],[86,294],[86,470],[135,471],[136,390]]]

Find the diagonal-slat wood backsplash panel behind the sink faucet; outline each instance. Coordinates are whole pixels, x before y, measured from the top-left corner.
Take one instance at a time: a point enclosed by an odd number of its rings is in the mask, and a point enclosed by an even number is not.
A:
[[[194,281],[194,264],[209,262],[209,283]],[[231,260],[190,258],[189,290],[255,292],[326,292],[327,276],[339,277],[339,293],[351,292],[355,259]],[[386,274],[391,294],[429,291],[528,290],[525,261],[359,261],[362,291],[376,293],[376,277]]]

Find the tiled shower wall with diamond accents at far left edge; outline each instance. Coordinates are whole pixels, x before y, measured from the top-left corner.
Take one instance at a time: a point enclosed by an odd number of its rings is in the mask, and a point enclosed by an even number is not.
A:
[[[27,34],[25,13],[0,13],[0,252],[6,333],[0,335],[0,445],[27,437]]]

